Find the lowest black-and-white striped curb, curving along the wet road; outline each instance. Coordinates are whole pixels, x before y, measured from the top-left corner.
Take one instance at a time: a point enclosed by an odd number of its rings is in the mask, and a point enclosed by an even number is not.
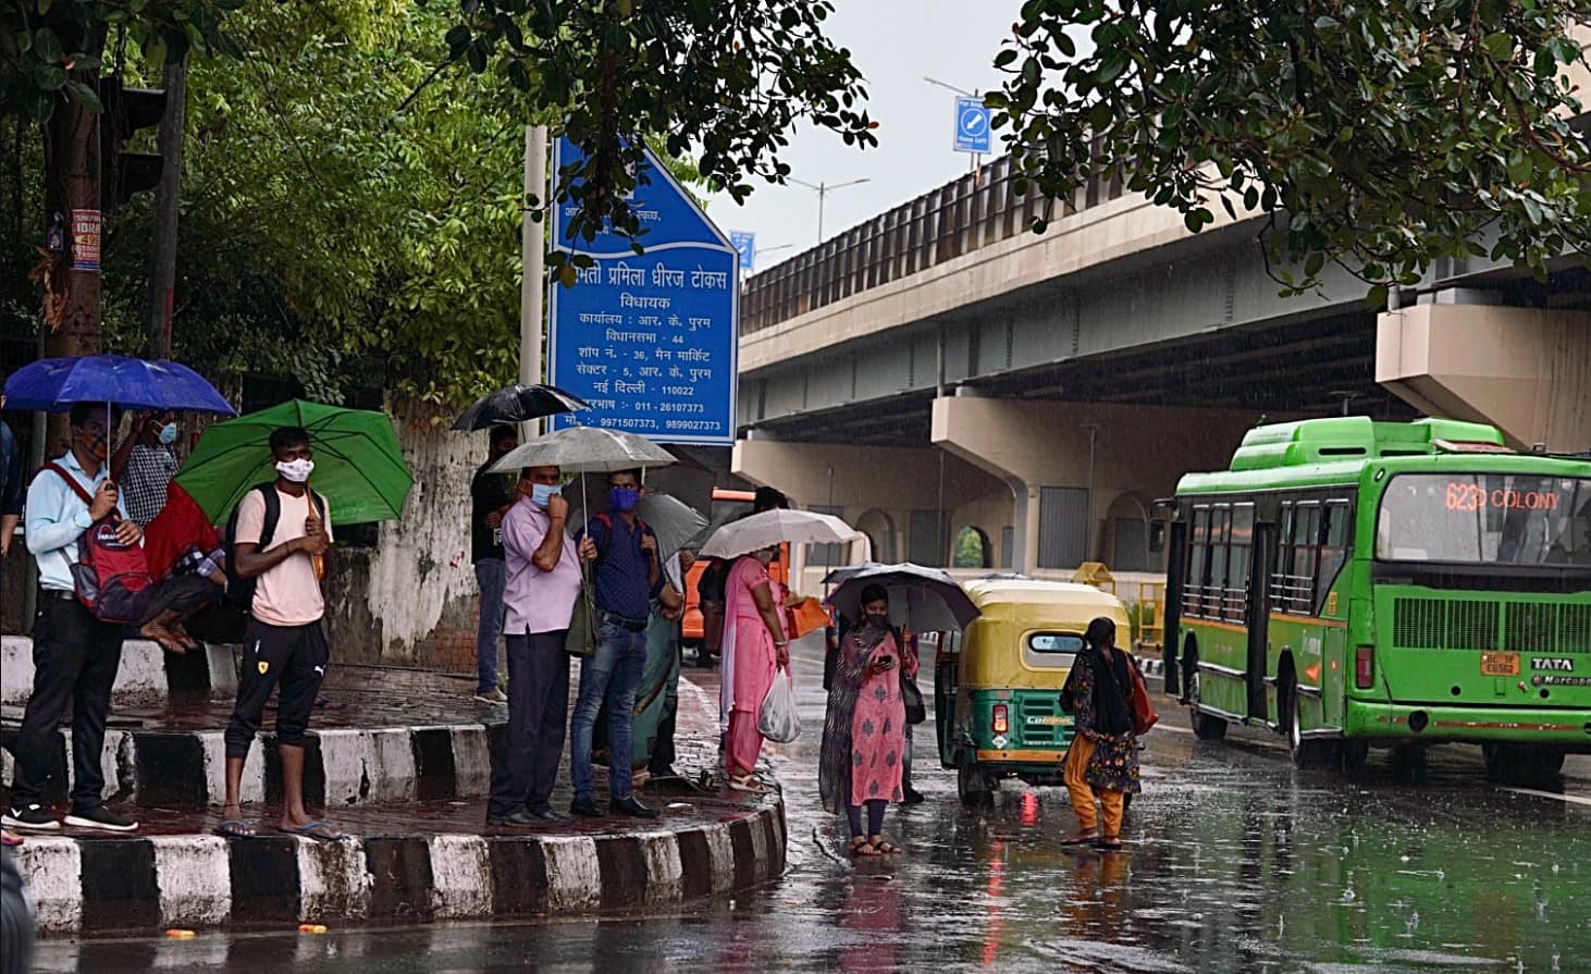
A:
[[[45,936],[293,923],[636,914],[784,871],[784,805],[616,836],[29,837],[18,867]]]

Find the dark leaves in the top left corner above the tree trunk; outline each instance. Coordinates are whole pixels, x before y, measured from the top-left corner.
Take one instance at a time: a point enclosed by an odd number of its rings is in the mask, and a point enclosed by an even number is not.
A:
[[[0,118],[43,123],[65,94],[100,108],[94,88],[72,72],[99,57],[108,30],[126,30],[159,64],[189,48],[235,54],[223,19],[243,0],[13,0],[0,6]]]

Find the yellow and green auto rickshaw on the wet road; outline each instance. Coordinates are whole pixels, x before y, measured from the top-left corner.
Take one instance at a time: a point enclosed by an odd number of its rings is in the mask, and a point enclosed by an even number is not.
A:
[[[1061,684],[1096,616],[1130,632],[1109,592],[1072,582],[988,578],[967,582],[982,616],[940,641],[934,668],[939,759],[956,769],[956,791],[980,802],[1002,778],[1060,785],[1072,740]]]

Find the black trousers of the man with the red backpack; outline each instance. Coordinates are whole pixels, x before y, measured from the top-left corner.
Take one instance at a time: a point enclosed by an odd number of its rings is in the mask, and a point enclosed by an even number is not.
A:
[[[121,668],[126,627],[100,622],[76,598],[41,592],[33,624],[33,692],[22,711],[22,729],[11,753],[16,775],[11,807],[37,804],[49,781],[51,756],[60,715],[72,705],[72,810],[92,812],[105,804],[105,716],[110,691]]]

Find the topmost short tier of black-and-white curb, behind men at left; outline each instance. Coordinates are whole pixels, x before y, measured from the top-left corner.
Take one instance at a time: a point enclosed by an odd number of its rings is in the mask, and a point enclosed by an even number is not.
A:
[[[33,692],[33,640],[0,637],[0,703],[24,707]],[[111,688],[111,707],[185,703],[237,695],[237,665],[231,646],[204,653],[165,653],[150,640],[121,645],[121,668]]]

